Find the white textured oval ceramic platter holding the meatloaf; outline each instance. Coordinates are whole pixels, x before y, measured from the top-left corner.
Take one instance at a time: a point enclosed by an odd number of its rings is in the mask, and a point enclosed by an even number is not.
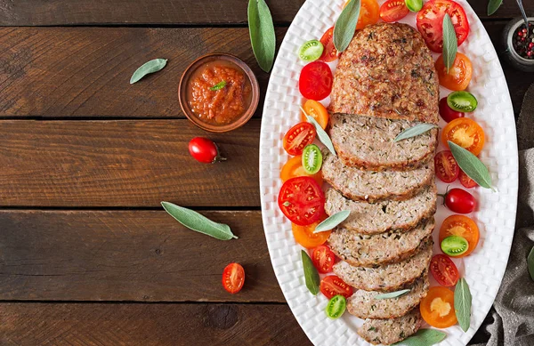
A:
[[[378,1],[383,4],[384,0]],[[481,230],[477,249],[463,260],[455,260],[460,274],[465,277],[473,294],[471,327],[464,333],[459,326],[447,328],[447,338],[440,345],[465,345],[481,326],[498,293],[514,236],[518,189],[518,156],[515,134],[514,110],[500,66],[497,52],[473,9],[465,0],[464,6],[471,33],[458,52],[473,61],[473,80],[467,89],[477,96],[479,107],[472,117],[486,133],[487,142],[481,152],[481,160],[490,169],[497,192],[489,189],[471,190],[479,200],[478,210],[469,215]],[[287,303],[296,320],[315,345],[369,345],[356,334],[361,320],[345,313],[342,318],[330,320],[324,309],[328,300],[322,295],[312,296],[304,285],[300,259],[302,246],[292,236],[291,223],[279,211],[277,197],[281,187],[279,172],[288,156],[282,147],[287,130],[298,123],[299,105],[303,97],[298,92],[298,76],[305,65],[296,52],[303,42],[320,38],[334,25],[344,0],[307,0],[296,14],[280,46],[271,72],[263,108],[260,140],[260,189],[265,237],[271,262]],[[403,22],[415,27],[415,13]],[[434,60],[437,55],[434,55]],[[441,97],[449,92],[441,90]],[[441,121],[441,127],[445,123]],[[443,149],[441,146],[440,149]],[[455,182],[451,187],[460,185]],[[439,191],[446,185],[438,182]],[[436,225],[450,213],[440,207]],[[434,231],[434,239],[437,236]],[[437,239],[436,239],[437,240]],[[438,252],[434,245],[434,253]],[[431,285],[435,286],[433,278]]]

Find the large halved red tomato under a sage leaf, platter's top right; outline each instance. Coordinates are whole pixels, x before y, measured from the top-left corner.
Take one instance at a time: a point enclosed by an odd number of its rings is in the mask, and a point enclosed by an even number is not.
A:
[[[451,0],[430,0],[417,13],[417,29],[433,52],[443,51],[443,17],[449,13],[457,34],[458,46],[469,35],[469,22],[464,8]]]

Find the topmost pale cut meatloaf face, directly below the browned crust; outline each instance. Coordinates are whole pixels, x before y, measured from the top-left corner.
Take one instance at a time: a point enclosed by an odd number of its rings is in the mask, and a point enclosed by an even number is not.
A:
[[[416,123],[376,117],[330,116],[330,138],[344,165],[370,171],[407,170],[426,164],[438,145],[438,129],[394,141]]]

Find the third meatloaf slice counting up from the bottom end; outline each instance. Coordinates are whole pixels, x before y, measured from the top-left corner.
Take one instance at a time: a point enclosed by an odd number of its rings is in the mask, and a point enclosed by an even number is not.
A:
[[[432,238],[412,257],[376,268],[355,267],[347,262],[334,264],[334,273],[350,286],[364,291],[392,292],[411,285],[428,268],[432,258]]]

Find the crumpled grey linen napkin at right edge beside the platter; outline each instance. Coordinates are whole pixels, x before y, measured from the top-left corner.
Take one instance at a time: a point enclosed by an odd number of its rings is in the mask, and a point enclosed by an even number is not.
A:
[[[525,94],[517,137],[519,197],[514,242],[490,311],[493,322],[486,326],[490,333],[487,346],[534,346],[534,281],[527,269],[527,256],[534,246],[534,84]]]

